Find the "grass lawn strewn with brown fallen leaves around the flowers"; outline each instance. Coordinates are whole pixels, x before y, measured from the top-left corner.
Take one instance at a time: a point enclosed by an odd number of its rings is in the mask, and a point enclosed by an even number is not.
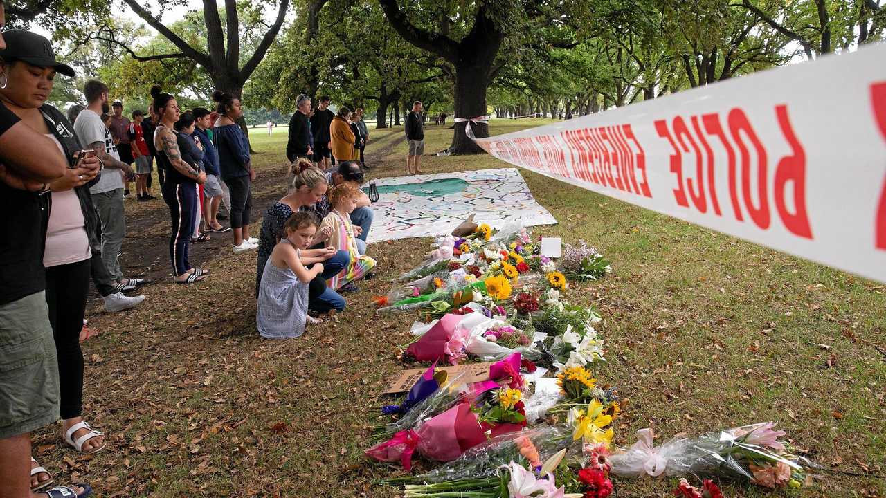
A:
[[[494,134],[548,121],[493,121]],[[253,130],[250,130],[253,132]],[[285,191],[286,135],[254,133],[264,183],[256,198]],[[452,131],[426,129],[425,151],[445,149]],[[402,128],[370,129],[369,178],[401,175]],[[427,173],[503,167],[487,155],[427,156]],[[595,193],[523,171],[559,225],[534,233],[584,238],[612,261],[602,281],[573,285],[574,302],[594,302],[608,362],[595,377],[629,400],[616,442],[652,426],[663,441],[777,420],[828,469],[800,496],[883,496],[886,484],[886,289],[862,278],[775,253]],[[151,206],[145,206],[150,204]],[[267,202],[257,203],[255,215]],[[129,268],[139,248],[167,244],[162,203],[128,202]],[[260,225],[256,223],[257,229]],[[255,230],[255,234],[257,235]],[[135,237],[135,238],[134,238]],[[371,297],[422,259],[427,239],[370,245],[381,278],[347,295],[348,309],[305,336],[262,340],[255,331],[255,254],[229,241],[194,245],[191,261],[213,270],[196,286],[157,278],[147,300],[120,315],[90,303],[84,344],[85,416],[108,433],[104,452],[78,456],[57,431],[35,437],[37,459],[61,482],[86,481],[99,496],[395,496],[374,486],[392,467],[366,462],[369,415],[417,315],[374,314]],[[668,496],[675,479],[614,479],[619,497]],[[724,486],[727,496],[769,495]]]

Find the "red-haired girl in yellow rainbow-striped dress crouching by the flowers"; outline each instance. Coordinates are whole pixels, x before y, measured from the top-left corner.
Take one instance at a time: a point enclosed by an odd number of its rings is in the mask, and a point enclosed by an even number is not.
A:
[[[366,276],[376,266],[375,260],[361,255],[357,249],[357,236],[351,223],[351,212],[354,211],[360,197],[360,188],[348,182],[332,188],[329,193],[332,210],[323,218],[320,228],[329,227],[332,233],[330,245],[338,251],[347,251],[351,257],[351,261],[344,269],[326,280],[331,289],[356,291],[356,286],[351,283]]]

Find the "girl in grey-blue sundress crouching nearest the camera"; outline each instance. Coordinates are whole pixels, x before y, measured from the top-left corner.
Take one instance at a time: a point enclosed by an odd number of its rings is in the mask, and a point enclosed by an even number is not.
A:
[[[331,247],[308,249],[316,231],[313,214],[295,213],[286,220],[285,236],[274,247],[261,276],[255,314],[261,337],[297,338],[305,331],[305,323],[322,322],[307,315],[309,287],[323,273],[322,261],[336,251]]]

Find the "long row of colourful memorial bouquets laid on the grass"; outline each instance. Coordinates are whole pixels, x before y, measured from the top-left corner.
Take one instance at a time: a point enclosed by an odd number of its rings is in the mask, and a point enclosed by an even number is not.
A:
[[[606,498],[614,478],[662,475],[809,485],[809,463],[773,423],[660,446],[646,429],[633,446],[615,447],[623,405],[597,378],[606,377],[598,331],[605,323],[594,307],[568,300],[570,281],[611,271],[581,240],[548,258],[519,227],[481,223],[466,236],[440,237],[428,259],[377,300],[379,313],[422,311],[429,321],[413,325],[401,359],[432,363],[400,403],[385,406],[397,418],[377,427],[386,440],[366,450],[408,472],[420,455],[431,470],[385,482],[416,498]],[[495,362],[486,380],[470,384],[435,370],[479,361]],[[699,481],[682,479],[672,494],[722,498],[714,480]]]

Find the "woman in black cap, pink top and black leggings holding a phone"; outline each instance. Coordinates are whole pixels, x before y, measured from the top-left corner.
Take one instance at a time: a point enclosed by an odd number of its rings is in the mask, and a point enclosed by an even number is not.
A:
[[[45,300],[58,358],[62,433],[71,446],[94,453],[105,447],[105,436],[82,419],[83,356],[79,337],[92,250],[101,246],[101,225],[88,187],[97,178],[98,162],[74,159],[81,150],[74,127],[58,109],[45,104],[56,73],[74,76],[74,70],[56,60],[49,40],[43,36],[13,30],[4,33],[4,39],[7,47],[0,51],[0,100],[28,128],[51,139],[69,163],[65,175],[49,183],[51,209],[43,251]],[[32,479],[32,486],[51,483],[51,479],[39,479],[45,471],[31,474],[37,481]],[[82,486],[79,496],[89,491],[89,486]],[[52,490],[47,494],[62,495]]]

